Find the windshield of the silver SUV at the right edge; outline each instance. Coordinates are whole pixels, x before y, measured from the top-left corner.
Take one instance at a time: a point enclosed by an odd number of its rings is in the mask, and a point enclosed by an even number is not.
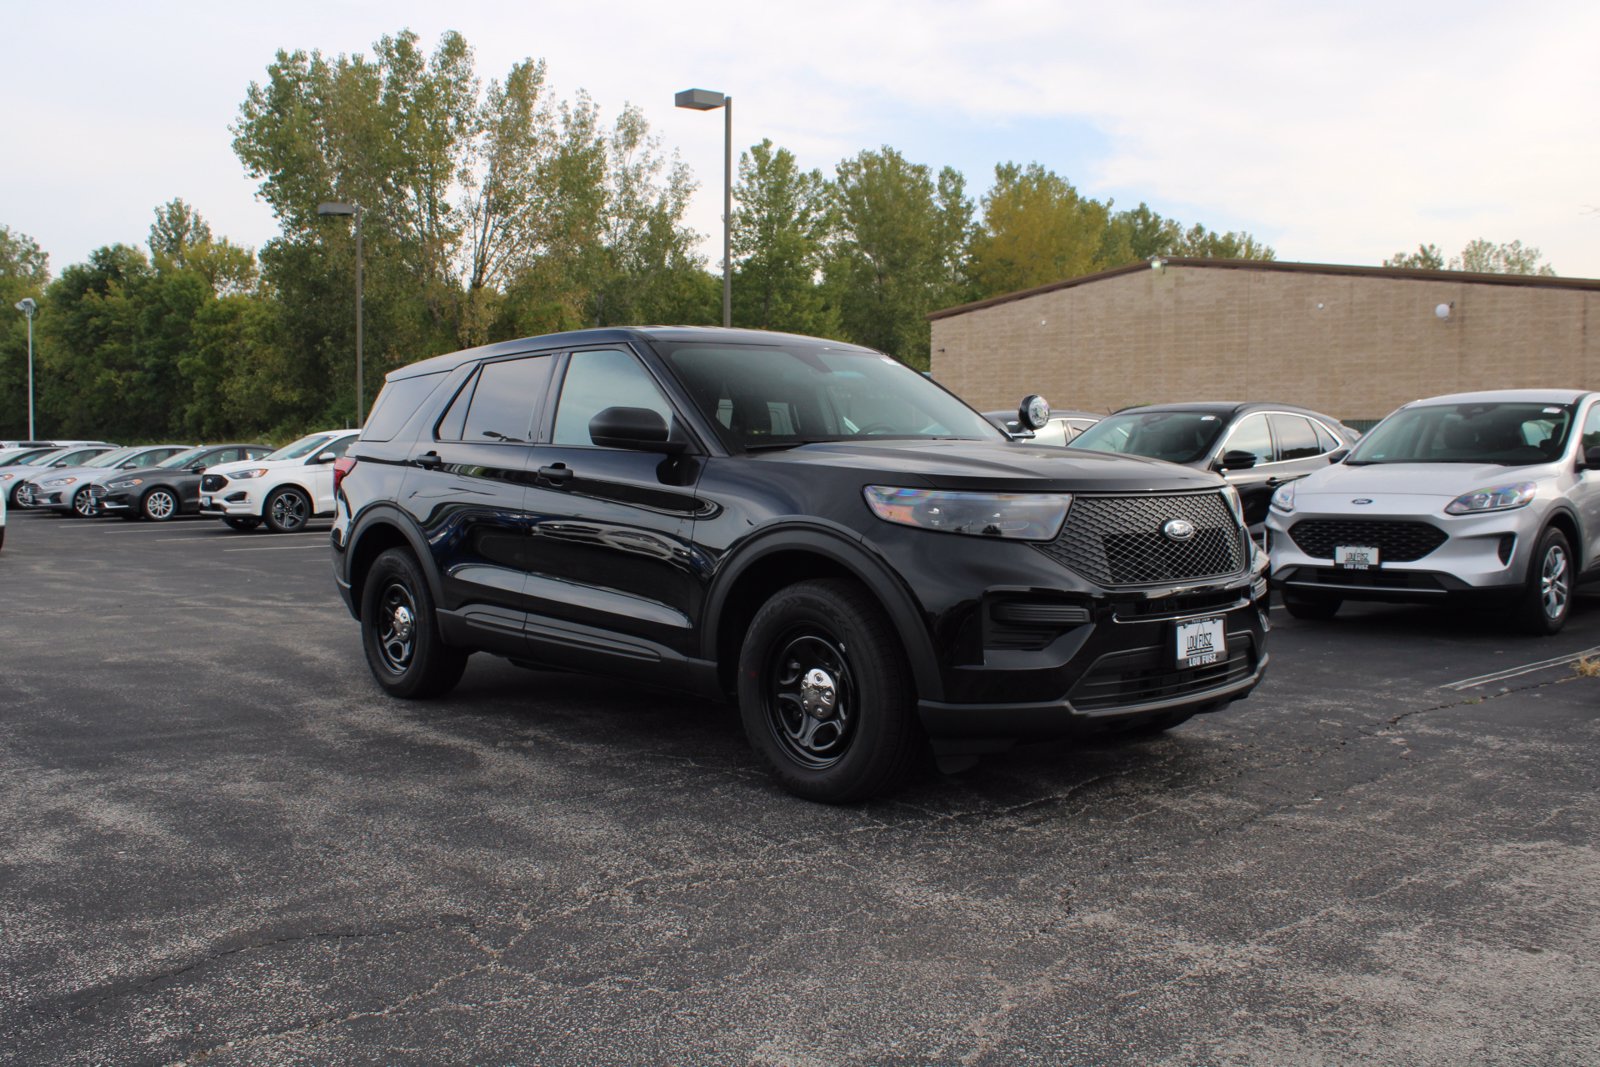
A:
[[[1402,408],[1362,438],[1350,466],[1470,462],[1523,467],[1557,459],[1573,426],[1562,403],[1435,403]]]

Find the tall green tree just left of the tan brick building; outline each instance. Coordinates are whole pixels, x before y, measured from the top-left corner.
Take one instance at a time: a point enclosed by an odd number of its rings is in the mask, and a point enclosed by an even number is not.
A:
[[[934,176],[891,147],[840,162],[826,266],[843,334],[928,366],[928,312],[963,293],[973,205],[960,173]]]

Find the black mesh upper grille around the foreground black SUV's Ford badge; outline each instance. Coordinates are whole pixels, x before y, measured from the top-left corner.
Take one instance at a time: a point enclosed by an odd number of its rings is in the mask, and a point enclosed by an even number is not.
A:
[[[1173,518],[1194,536],[1162,533]],[[1061,534],[1038,545],[1050,558],[1101,585],[1154,585],[1222,577],[1245,569],[1243,533],[1221,493],[1077,496]]]

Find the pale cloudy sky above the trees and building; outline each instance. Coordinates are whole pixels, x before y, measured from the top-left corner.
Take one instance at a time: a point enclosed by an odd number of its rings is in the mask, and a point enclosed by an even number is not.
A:
[[[701,6],[704,14],[694,14]],[[1280,259],[1376,266],[1437,243],[1522,240],[1600,277],[1600,3],[808,0],[734,5],[8,5],[0,224],[53,274],[144,243],[182,197],[216,234],[277,232],[227,126],[274,53],[371,53],[459,30],[483,80],[542,58],[560,98],[610,122],[637,104],[701,184],[690,224],[720,253],[722,112],[832,173],[891,146],[979,198],[998,162],[1186,224],[1248,230]]]

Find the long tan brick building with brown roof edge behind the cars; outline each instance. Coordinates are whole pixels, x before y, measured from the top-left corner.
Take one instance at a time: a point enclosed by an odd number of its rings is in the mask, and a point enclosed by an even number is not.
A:
[[[1448,315],[1445,314],[1448,312]],[[1469,389],[1600,389],[1600,280],[1157,259],[930,315],[981,410],[1277,400],[1366,422]]]

